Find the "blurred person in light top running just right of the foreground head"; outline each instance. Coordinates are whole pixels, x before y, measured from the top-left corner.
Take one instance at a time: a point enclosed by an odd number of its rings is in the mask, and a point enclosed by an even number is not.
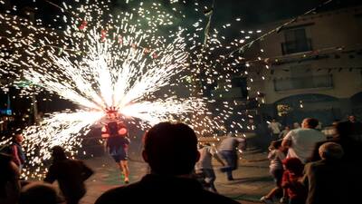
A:
[[[214,173],[214,168],[212,164],[213,158],[221,165],[225,165],[224,161],[219,158],[217,151],[210,143],[206,142],[204,145],[200,145],[200,160],[197,161],[195,165],[195,172],[198,175],[202,175],[202,178],[205,181],[207,189],[210,189],[213,192],[217,192],[214,187],[214,180],[216,180],[216,175]]]

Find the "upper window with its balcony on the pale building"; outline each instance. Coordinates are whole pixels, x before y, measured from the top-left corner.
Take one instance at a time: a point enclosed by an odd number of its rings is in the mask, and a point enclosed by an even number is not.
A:
[[[283,54],[302,53],[312,50],[311,40],[307,38],[304,28],[286,30],[285,42],[281,44]]]

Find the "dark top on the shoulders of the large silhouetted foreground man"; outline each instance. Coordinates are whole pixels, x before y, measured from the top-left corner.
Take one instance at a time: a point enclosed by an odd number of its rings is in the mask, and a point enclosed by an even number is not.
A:
[[[148,174],[129,186],[108,190],[95,203],[237,204],[239,202],[203,189],[197,180]]]

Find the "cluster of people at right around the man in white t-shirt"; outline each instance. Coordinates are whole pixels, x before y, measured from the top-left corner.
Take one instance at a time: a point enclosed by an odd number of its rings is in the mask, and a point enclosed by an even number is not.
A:
[[[301,128],[271,141],[268,158],[275,188],[262,197],[264,203],[356,203],[362,182],[362,123],[354,116],[336,122],[333,137],[318,126],[317,119],[307,118]]]

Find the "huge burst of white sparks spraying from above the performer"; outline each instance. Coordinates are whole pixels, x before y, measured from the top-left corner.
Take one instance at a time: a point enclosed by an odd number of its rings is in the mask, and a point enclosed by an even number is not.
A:
[[[231,79],[242,62],[237,56],[225,61],[229,56],[220,53],[243,44],[249,38],[245,32],[242,39],[225,45],[225,37],[214,29],[204,44],[201,17],[191,27],[174,25],[186,19],[176,6],[184,1],[170,1],[172,12],[161,4],[140,2],[131,12],[117,15],[110,15],[108,4],[57,5],[63,15],[54,21],[66,24],[60,25],[62,30],[46,28],[39,20],[0,14],[5,27],[0,36],[4,51],[0,75],[7,80],[3,90],[8,84],[26,82],[25,95],[52,92],[79,106],[76,111],[52,112],[41,124],[25,129],[24,148],[31,167],[25,170],[27,177],[43,174],[43,160],[50,159],[54,145],[75,155],[81,146],[79,136],[111,106],[127,120],[139,121],[140,128],[159,121],[184,121],[199,135],[223,130],[232,116],[244,114],[235,108],[236,102],[220,102],[219,97],[233,89]],[[196,14],[203,9],[207,7],[195,3]],[[205,98],[207,86],[214,83],[218,90],[213,99]],[[237,121],[228,126],[227,131],[235,133],[251,129]]]

